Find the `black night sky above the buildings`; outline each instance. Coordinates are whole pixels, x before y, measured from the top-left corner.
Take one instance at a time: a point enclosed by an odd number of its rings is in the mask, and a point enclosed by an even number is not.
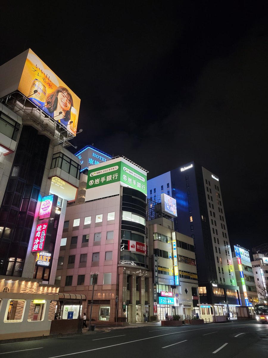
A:
[[[149,179],[194,160],[219,176],[230,243],[268,242],[264,1],[9,3],[0,65],[31,48],[78,95],[72,153],[93,144]]]

